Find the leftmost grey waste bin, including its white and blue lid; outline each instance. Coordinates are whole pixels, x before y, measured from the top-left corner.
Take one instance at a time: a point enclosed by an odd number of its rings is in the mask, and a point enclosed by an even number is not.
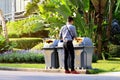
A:
[[[58,40],[47,39],[44,42],[43,51],[46,69],[59,68],[57,46]]]

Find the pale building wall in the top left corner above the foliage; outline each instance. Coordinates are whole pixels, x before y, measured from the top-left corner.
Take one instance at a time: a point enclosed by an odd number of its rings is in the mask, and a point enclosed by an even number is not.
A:
[[[15,0],[15,12],[25,11],[27,3],[31,1],[32,0]],[[10,17],[12,13],[12,0],[0,0],[0,9],[2,9],[4,15],[10,13]]]

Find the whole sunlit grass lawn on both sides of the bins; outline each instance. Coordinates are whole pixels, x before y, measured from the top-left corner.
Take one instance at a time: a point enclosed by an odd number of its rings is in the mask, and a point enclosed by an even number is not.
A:
[[[26,63],[0,63],[0,67],[15,67],[15,68],[39,68],[45,69],[45,64],[26,64]],[[92,63],[93,70],[88,70],[89,73],[115,72],[120,71],[120,58],[112,58],[109,60],[99,60],[97,63]]]

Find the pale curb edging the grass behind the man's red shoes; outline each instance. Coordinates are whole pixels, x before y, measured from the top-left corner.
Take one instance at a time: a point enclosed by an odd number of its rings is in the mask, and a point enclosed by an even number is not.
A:
[[[13,68],[13,67],[0,67],[0,70],[8,71],[33,71],[33,72],[50,72],[50,73],[64,73],[64,69],[37,69],[37,68]],[[86,74],[86,70],[78,70],[81,74]]]

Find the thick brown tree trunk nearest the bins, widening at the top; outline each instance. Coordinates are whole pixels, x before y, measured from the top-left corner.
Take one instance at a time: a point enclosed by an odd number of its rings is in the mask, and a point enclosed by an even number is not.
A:
[[[96,11],[96,19],[97,19],[97,54],[100,57],[102,53],[102,22],[103,22],[103,14],[105,11],[105,6],[107,0],[91,0],[92,4],[95,7]]]

